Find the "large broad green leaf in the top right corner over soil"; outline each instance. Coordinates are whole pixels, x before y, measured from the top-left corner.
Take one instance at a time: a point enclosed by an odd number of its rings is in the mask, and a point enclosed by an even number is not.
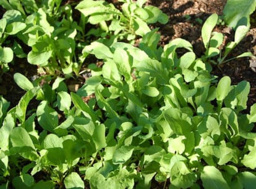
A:
[[[250,25],[250,14],[256,7],[255,0],[228,0],[224,6],[224,21],[229,27],[237,28],[239,25]]]

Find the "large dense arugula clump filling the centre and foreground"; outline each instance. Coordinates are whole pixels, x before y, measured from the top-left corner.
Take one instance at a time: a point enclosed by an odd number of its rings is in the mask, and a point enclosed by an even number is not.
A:
[[[256,106],[242,113],[249,82],[216,82],[188,41],[161,48],[158,38],[146,34],[141,49],[85,46],[104,65],[90,65],[76,94],[64,78],[40,86],[16,73],[27,92],[9,111],[1,99],[2,187],[253,187]],[[178,48],[188,52],[178,57]],[[32,99],[39,105],[27,110]]]

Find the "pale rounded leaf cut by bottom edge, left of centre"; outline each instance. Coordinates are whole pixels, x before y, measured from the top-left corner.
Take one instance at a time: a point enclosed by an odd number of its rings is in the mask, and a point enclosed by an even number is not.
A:
[[[77,172],[71,172],[69,175],[67,175],[67,177],[64,179],[64,184],[67,189],[85,188],[85,184]]]

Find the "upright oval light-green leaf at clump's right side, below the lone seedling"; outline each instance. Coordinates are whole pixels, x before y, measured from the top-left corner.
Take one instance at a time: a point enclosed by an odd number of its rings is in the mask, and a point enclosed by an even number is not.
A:
[[[231,79],[229,78],[229,76],[224,76],[220,79],[216,90],[216,99],[218,101],[223,101],[226,98],[230,91],[230,86]]]

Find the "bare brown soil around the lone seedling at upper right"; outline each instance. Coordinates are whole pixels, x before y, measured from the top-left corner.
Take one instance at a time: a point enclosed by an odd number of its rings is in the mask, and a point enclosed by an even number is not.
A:
[[[166,25],[154,25],[161,33],[161,44],[166,44],[175,38],[183,38],[191,42],[195,54],[200,57],[205,52],[202,44],[201,29],[203,22],[213,13],[223,14],[226,0],[149,0],[148,4],[159,7],[169,15],[169,22]],[[227,59],[236,57],[243,52],[250,51],[256,55],[256,13],[251,15],[250,31],[238,46],[229,54]],[[216,31],[226,36],[226,41],[234,40],[234,31],[222,25],[215,28]],[[219,76],[229,76],[233,84],[246,80],[250,82],[250,94],[247,102],[247,111],[256,102],[256,73],[250,66],[250,62],[255,62],[251,58],[238,58],[221,65],[221,69],[213,66],[213,74]]]

